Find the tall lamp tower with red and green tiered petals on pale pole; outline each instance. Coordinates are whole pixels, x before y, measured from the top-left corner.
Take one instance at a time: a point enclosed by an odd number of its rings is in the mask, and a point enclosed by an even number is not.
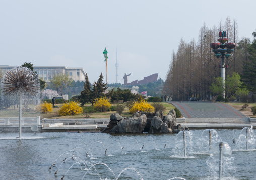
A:
[[[231,56],[231,53],[234,51],[233,49],[236,46],[236,43],[228,43],[227,32],[226,31],[220,31],[219,32],[219,43],[211,43],[210,46],[213,48],[214,55],[217,57],[217,59],[220,58],[220,68],[221,68],[221,78],[223,80],[223,97],[225,98],[225,70],[228,67],[227,64],[225,64],[225,57],[228,59]]]

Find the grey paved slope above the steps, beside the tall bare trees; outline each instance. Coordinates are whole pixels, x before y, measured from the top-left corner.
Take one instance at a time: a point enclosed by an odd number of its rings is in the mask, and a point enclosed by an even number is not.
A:
[[[185,118],[246,118],[244,114],[223,103],[169,102],[177,107]]]

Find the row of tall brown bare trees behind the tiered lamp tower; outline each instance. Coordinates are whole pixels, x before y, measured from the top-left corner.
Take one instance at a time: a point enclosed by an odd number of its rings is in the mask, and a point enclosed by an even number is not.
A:
[[[189,42],[181,38],[178,50],[173,51],[171,55],[163,88],[164,94],[172,96],[173,101],[188,101],[190,97],[207,100],[210,96],[218,95],[212,92],[211,86],[216,83],[216,78],[221,76],[220,59],[217,59],[211,51],[210,43],[218,42],[219,31],[227,32],[228,42],[237,43],[232,56],[225,59],[226,77],[232,77],[237,73],[242,77],[241,81],[245,85],[251,84],[244,81],[246,79],[244,75],[247,71],[253,70],[249,68],[251,66],[249,63],[253,63],[254,45],[248,38],[238,37],[237,26],[235,19],[231,20],[227,17],[224,23],[220,22],[218,26],[212,28],[204,24],[200,28],[197,42],[194,38]],[[253,42],[255,43],[255,39]],[[248,79],[249,76],[247,81]]]

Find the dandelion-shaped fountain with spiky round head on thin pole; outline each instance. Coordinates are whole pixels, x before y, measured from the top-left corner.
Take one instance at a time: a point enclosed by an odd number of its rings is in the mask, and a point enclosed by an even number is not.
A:
[[[40,83],[36,73],[27,67],[12,68],[5,73],[1,81],[4,95],[19,95],[19,138],[21,138],[21,105],[23,95],[36,96],[40,90]]]

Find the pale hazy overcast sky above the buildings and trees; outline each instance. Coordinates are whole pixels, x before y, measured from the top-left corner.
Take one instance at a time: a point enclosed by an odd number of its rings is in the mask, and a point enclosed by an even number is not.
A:
[[[89,81],[165,79],[172,50],[198,39],[200,27],[236,19],[239,37],[256,30],[256,1],[7,1],[0,0],[0,65],[83,67]]]

